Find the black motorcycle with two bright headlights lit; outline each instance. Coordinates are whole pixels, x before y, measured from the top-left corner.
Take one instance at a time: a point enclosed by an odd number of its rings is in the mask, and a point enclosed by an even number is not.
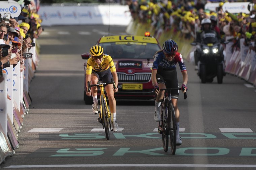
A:
[[[217,76],[218,84],[222,84],[225,64],[224,48],[221,43],[227,44],[228,41],[223,42],[218,41],[217,37],[207,37],[201,43],[191,43],[191,45],[197,46],[194,57],[201,83],[213,82],[213,78]]]

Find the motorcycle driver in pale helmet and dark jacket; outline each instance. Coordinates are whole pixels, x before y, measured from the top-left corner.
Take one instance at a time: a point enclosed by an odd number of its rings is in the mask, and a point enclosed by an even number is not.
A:
[[[201,43],[205,38],[208,38],[208,37],[217,37],[218,40],[221,39],[220,35],[212,29],[211,20],[208,18],[204,18],[201,21],[201,32],[197,33],[196,42]],[[194,52],[194,58],[195,58],[195,65],[197,70],[198,69],[197,63],[199,60],[199,51],[197,49]]]

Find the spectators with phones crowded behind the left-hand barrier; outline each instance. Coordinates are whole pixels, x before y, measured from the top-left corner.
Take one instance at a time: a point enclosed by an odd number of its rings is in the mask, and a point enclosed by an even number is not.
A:
[[[24,69],[24,61],[31,58],[30,48],[34,46],[33,40],[43,31],[41,18],[37,14],[39,7],[24,1],[18,17],[10,19],[0,14],[0,82],[3,81],[2,69],[20,62],[20,71]],[[7,2],[8,3],[8,2]]]

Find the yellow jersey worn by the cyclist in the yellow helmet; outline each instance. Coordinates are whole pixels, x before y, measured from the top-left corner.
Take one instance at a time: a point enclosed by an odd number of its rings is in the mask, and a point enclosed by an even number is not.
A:
[[[100,65],[98,65],[92,57],[90,57],[87,60],[86,74],[92,74],[92,69],[94,71],[101,72],[101,71],[107,70],[109,67],[110,67],[111,72],[116,71],[116,67],[113,62],[113,59],[109,55],[103,54],[103,58],[102,58]]]

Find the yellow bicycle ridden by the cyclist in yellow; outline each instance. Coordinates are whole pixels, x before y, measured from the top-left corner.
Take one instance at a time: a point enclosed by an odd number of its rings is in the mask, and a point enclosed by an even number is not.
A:
[[[111,127],[111,113],[109,112],[108,106],[107,106],[107,100],[106,100],[106,96],[104,93],[104,85],[106,86],[107,84],[113,84],[114,89],[116,89],[116,85],[113,79],[111,79],[110,83],[98,83],[98,84],[91,84],[90,85],[90,81],[87,81],[87,91],[91,90],[92,86],[97,86],[100,88],[100,111],[99,111],[99,119],[100,119],[100,123],[103,127],[103,129],[105,129],[105,133],[106,133],[106,138],[107,140],[109,140],[110,138],[110,134],[109,134],[109,128],[110,131],[113,131],[112,127]]]

